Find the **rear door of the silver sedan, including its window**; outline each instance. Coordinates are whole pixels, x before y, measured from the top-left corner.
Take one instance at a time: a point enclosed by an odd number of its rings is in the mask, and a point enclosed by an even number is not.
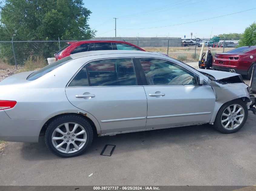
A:
[[[87,63],[66,87],[68,100],[92,114],[101,133],[143,129],[147,98],[132,58]]]

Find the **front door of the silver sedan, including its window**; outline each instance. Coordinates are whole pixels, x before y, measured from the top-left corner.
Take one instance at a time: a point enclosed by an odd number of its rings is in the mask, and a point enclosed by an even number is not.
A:
[[[198,86],[193,72],[170,61],[138,59],[145,73],[146,128],[209,123],[215,104],[211,86]]]

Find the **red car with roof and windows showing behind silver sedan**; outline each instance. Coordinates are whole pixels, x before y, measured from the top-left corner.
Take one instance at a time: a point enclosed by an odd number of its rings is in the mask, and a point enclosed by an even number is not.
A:
[[[56,61],[62,59],[70,54],[81,53],[93,50],[140,50],[142,48],[134,44],[119,41],[119,40],[83,40],[83,41],[70,41],[68,44],[60,49],[54,57]]]

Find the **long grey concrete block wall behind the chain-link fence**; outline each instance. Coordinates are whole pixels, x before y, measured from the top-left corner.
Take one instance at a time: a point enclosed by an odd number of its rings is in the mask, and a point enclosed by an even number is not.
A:
[[[143,47],[180,47],[181,38],[176,37],[96,37],[90,40],[125,40],[131,44]]]

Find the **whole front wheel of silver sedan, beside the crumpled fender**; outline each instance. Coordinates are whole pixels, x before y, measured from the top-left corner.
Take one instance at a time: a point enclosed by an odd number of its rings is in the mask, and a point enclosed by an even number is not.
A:
[[[244,101],[237,99],[224,103],[214,121],[214,128],[222,133],[234,133],[244,126],[248,109]]]

